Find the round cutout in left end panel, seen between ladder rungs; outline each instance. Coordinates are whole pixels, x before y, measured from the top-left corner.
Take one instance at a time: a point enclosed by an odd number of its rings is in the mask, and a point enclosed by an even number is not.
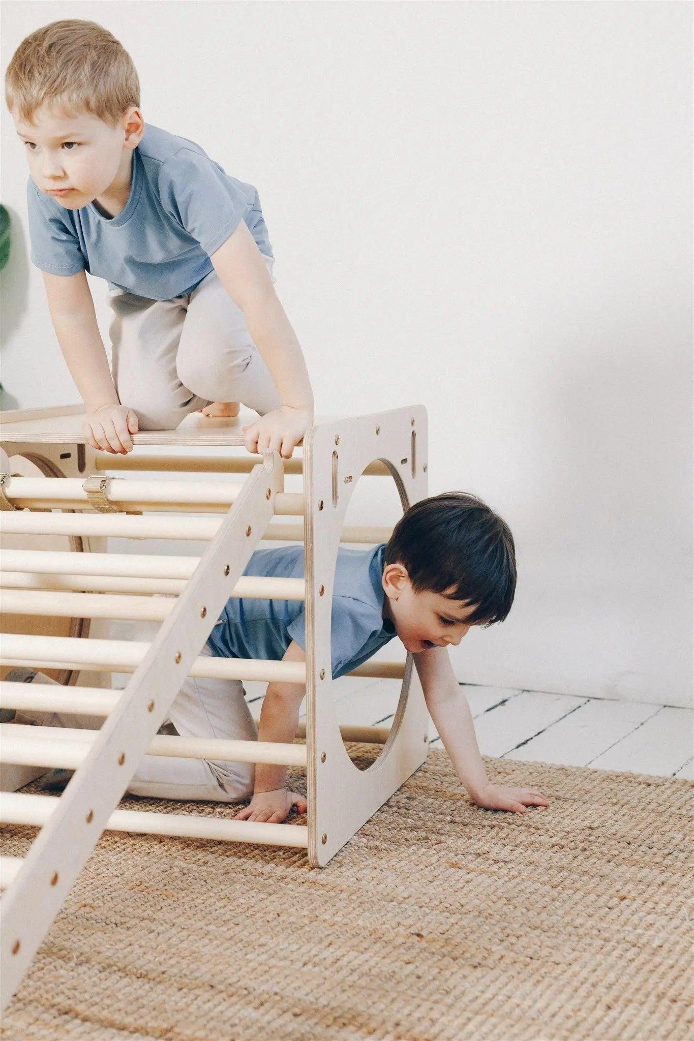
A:
[[[65,477],[58,467],[43,456],[27,454],[9,457],[9,474],[11,477]],[[72,511],[60,511],[72,512]],[[3,550],[50,550],[82,553],[85,549],[83,540],[68,535],[11,535],[2,537]],[[0,576],[0,586],[6,584],[15,589],[50,589],[53,576],[34,575],[30,573],[4,573]],[[35,614],[2,614],[0,633],[17,633],[28,636],[87,636],[88,618],[53,617]],[[0,667],[0,680],[4,679],[11,665]],[[62,685],[74,684],[79,672],[73,669],[46,668],[42,669],[52,680]]]

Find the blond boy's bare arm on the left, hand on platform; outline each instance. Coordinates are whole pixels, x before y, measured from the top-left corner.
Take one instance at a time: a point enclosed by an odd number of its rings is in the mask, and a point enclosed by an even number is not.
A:
[[[137,416],[119,402],[84,271],[42,272],[48,309],[70,375],[86,406],[83,432],[94,449],[123,453],[132,448]]]

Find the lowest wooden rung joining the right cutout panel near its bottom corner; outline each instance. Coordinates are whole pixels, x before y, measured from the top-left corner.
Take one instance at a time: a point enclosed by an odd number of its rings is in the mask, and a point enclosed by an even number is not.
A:
[[[28,795],[23,792],[0,793],[0,823],[42,828],[56,809],[55,795]],[[187,839],[211,839],[215,842],[255,842],[305,849],[308,829],[302,824],[264,824],[255,820],[228,817],[194,817],[181,813],[152,813],[139,810],[114,810],[106,823],[111,832],[136,835],[170,835]]]

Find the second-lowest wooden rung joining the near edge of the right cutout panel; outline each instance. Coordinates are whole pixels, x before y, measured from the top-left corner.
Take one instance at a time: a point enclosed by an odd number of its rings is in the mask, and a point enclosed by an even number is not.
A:
[[[76,769],[86,757],[98,733],[97,730],[74,730],[68,727],[0,723],[0,762]],[[211,759],[229,763],[306,766],[305,744],[280,741],[234,741],[215,737],[157,734],[152,738],[147,755],[170,756],[174,759]]]

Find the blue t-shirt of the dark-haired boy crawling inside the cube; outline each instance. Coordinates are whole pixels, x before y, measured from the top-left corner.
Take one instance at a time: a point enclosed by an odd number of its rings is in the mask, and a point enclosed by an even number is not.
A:
[[[395,635],[392,621],[383,617],[384,551],[385,542],[371,550],[338,550],[331,616],[334,680]],[[257,550],[243,575],[304,578],[304,548]],[[227,602],[207,644],[217,658],[278,661],[292,640],[306,650],[304,601],[235,596]]]

